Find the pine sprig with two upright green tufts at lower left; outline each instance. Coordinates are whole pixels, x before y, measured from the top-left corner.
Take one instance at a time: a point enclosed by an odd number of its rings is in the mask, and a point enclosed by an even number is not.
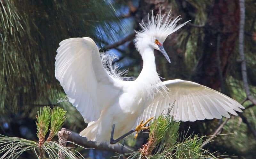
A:
[[[0,159],[18,158],[23,152],[28,150],[32,150],[38,158],[44,158],[44,153],[46,153],[50,159],[58,159],[58,151],[64,153],[68,158],[83,158],[79,152],[73,149],[74,147],[62,147],[58,142],[51,141],[63,125],[66,119],[65,114],[65,110],[56,106],[52,110],[49,106],[40,108],[36,116],[38,143],[36,141],[1,135]],[[45,141],[45,135],[49,130],[50,134]],[[70,143],[79,146],[73,142]]]

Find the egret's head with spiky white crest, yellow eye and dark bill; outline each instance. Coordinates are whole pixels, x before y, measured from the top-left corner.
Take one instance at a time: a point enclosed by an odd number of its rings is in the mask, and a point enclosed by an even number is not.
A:
[[[140,52],[143,53],[143,50],[147,47],[152,49],[159,50],[164,57],[171,63],[171,60],[164,50],[163,43],[168,35],[177,31],[182,26],[184,26],[189,21],[177,25],[177,22],[181,19],[178,17],[172,19],[170,11],[168,14],[161,15],[161,9],[159,14],[154,16],[153,11],[151,18],[148,14],[148,22],[144,23],[143,20],[140,23],[141,31],[135,31],[135,47]]]

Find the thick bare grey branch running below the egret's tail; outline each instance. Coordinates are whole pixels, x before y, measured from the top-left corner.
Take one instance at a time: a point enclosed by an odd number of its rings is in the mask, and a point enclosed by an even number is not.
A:
[[[75,142],[78,145],[83,145],[86,148],[97,148],[100,150],[112,151],[116,153],[121,152],[122,145],[115,144],[115,145],[108,145],[107,143],[101,143],[99,146],[95,144],[95,142],[87,141],[85,137],[80,136],[76,132],[70,131],[72,134],[68,137],[68,141]],[[123,153],[131,153],[133,152],[132,148],[124,145]]]

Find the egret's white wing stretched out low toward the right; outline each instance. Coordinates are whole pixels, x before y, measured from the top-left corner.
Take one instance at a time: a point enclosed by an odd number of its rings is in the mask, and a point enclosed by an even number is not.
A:
[[[161,84],[169,89],[168,97],[156,95],[154,101],[137,119],[136,124],[142,119],[146,121],[152,116],[167,113],[168,108],[173,104],[170,115],[175,121],[220,119],[222,116],[230,118],[228,112],[237,115],[235,111],[242,112],[240,108],[244,109],[234,99],[198,83],[176,79],[164,81]]]

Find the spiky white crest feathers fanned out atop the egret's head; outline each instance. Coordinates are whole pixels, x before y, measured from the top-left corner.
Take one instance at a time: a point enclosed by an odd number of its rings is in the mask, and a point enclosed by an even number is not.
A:
[[[144,23],[143,20],[140,23],[141,31],[135,31],[137,34],[135,35],[135,47],[140,51],[140,42],[143,41],[145,38],[155,37],[157,38],[161,43],[164,43],[165,39],[168,35],[171,33],[177,31],[182,26],[186,25],[189,21],[177,25],[177,22],[181,19],[180,16],[177,16],[176,18],[172,19],[171,11],[168,12],[168,14],[164,13],[164,15],[161,15],[161,8],[159,9],[159,13],[154,16],[154,13],[152,11],[151,18],[149,18],[148,13],[148,22]],[[153,39],[155,40],[155,39]]]

